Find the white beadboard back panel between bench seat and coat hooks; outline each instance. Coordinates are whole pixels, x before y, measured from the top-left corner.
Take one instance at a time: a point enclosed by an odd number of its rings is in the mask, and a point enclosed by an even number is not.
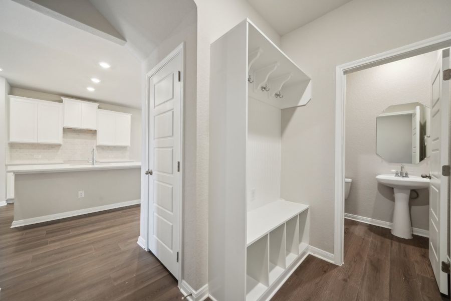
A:
[[[280,133],[281,110],[249,97],[248,211],[280,199]]]

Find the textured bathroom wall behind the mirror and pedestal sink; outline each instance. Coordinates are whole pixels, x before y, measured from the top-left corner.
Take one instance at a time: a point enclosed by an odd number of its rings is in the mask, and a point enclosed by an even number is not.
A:
[[[437,52],[431,52],[347,75],[345,175],[352,179],[352,185],[345,201],[346,213],[392,221],[393,190],[378,185],[375,176],[400,170],[400,164],[387,162],[376,155],[376,117],[391,105],[419,102],[430,107],[430,77],[436,61]],[[402,107],[396,108],[402,110]],[[411,116],[404,116],[407,119],[405,136],[411,140]],[[390,117],[398,116],[383,118]],[[410,161],[410,141],[406,148]],[[412,175],[427,174],[429,158],[418,165],[405,166]],[[429,194],[427,189],[418,190],[418,193],[418,199],[410,201],[412,226],[427,230]]]

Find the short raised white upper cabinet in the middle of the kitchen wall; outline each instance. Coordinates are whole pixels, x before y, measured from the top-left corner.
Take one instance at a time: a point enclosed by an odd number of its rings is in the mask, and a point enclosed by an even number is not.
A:
[[[98,103],[61,97],[64,104],[64,127],[97,129]]]

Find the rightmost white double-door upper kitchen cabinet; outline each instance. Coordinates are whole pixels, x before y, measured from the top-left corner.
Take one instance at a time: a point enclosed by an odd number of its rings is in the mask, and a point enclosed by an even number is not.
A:
[[[131,114],[97,110],[97,145],[130,146]]]

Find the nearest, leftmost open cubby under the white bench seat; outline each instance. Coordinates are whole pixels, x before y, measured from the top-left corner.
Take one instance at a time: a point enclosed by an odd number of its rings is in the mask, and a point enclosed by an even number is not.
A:
[[[263,236],[247,249],[246,301],[258,300],[269,285],[268,235]]]

